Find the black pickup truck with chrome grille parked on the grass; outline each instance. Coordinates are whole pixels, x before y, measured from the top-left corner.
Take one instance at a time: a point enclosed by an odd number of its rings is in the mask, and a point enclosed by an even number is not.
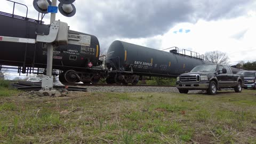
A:
[[[180,93],[188,93],[189,90],[206,90],[212,95],[221,89],[235,89],[235,92],[241,92],[242,85],[241,76],[233,74],[229,66],[219,64],[196,66],[190,73],[177,77],[176,82]]]

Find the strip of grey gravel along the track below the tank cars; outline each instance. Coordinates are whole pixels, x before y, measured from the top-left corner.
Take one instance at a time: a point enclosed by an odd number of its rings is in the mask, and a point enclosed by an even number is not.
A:
[[[88,92],[166,92],[179,93],[176,87],[166,86],[81,86]],[[189,91],[189,93],[202,93],[202,91]]]

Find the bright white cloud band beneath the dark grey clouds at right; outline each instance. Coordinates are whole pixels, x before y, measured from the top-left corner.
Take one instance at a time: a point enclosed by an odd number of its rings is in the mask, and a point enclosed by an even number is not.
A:
[[[167,47],[178,46],[180,49],[188,49],[204,54],[207,51],[222,51],[229,55],[230,63],[234,64],[241,60],[256,60],[256,17],[250,14],[229,20],[204,21],[196,23],[179,23],[171,28],[163,36],[151,38],[161,39],[162,45],[154,47],[162,50]],[[255,14],[255,13],[254,13]],[[183,33],[173,33],[183,29]],[[184,33],[189,29],[189,33]],[[245,33],[241,34],[241,31]],[[241,38],[234,35],[241,34]],[[151,39],[149,38],[149,39]],[[125,39],[128,42],[147,45],[147,39]]]

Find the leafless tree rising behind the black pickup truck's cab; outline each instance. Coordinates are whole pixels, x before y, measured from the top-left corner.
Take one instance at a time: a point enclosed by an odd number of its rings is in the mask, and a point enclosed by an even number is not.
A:
[[[211,51],[204,54],[204,58],[212,63],[228,64],[228,55],[221,51]]]

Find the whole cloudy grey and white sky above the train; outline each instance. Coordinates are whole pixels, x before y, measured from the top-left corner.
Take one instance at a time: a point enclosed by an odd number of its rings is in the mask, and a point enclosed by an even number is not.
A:
[[[32,0],[13,0],[29,7]],[[1,0],[0,11],[12,13],[12,3]],[[102,51],[115,40],[154,49],[178,46],[204,54],[226,52],[230,64],[256,60],[256,1],[254,0],[76,0],[76,15],[57,14],[70,29],[95,35]],[[14,13],[25,15],[17,6]],[[49,23],[50,14],[43,21]]]

